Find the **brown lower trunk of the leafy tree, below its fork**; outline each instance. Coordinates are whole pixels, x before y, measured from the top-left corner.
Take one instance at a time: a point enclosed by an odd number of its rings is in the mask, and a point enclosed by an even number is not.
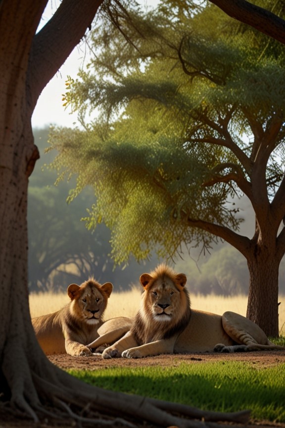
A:
[[[268,251],[267,247],[258,247],[257,250],[247,260],[250,282],[246,317],[258,324],[267,336],[278,337],[280,261],[274,249]]]

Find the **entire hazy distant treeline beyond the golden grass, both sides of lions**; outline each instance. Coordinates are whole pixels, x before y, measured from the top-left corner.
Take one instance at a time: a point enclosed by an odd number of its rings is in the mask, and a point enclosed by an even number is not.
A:
[[[49,129],[34,129],[35,143],[41,159],[30,177],[29,227],[29,287],[30,290],[65,290],[69,283],[81,283],[89,276],[99,282],[110,281],[114,289],[127,289],[138,284],[143,272],[152,270],[159,261],[137,263],[131,260],[126,267],[114,268],[110,257],[110,230],[100,224],[91,233],[81,221],[95,202],[91,187],[86,188],[70,205],[66,198],[75,182],[63,181],[54,186],[56,172],[44,166],[55,153],[44,153]],[[244,213],[246,215],[246,213]],[[237,295],[247,294],[248,269],[246,260],[236,249],[220,243],[211,255],[198,257],[199,250],[185,251],[175,269],[188,276],[191,293]],[[191,256],[191,257],[190,257]],[[199,259],[196,264],[193,259]],[[285,264],[280,269],[280,290],[285,292]]]

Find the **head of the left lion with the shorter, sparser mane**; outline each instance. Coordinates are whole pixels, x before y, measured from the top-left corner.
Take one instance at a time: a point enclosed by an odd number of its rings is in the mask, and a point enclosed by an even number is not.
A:
[[[100,285],[94,279],[89,279],[80,286],[70,284],[67,293],[72,301],[71,315],[78,321],[97,324],[101,321],[112,289],[113,286],[110,282]]]

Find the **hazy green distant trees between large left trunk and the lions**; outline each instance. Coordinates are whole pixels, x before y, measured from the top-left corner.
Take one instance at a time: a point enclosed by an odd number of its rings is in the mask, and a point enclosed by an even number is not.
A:
[[[37,161],[29,180],[29,288],[66,291],[68,284],[81,283],[89,276],[99,282],[111,281],[114,289],[127,289],[137,281],[145,269],[152,269],[156,260],[147,268],[131,260],[129,269],[114,268],[110,231],[100,224],[91,234],[81,220],[86,207],[94,201],[91,186],[85,188],[72,205],[66,203],[71,183],[53,186],[56,172],[44,166],[54,154],[44,154],[48,129],[35,129],[35,143],[41,159]]]

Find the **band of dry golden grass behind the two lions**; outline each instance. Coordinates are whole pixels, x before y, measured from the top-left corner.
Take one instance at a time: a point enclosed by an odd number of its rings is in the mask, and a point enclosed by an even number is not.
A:
[[[284,302],[285,296],[280,296],[279,301]],[[31,317],[50,314],[58,311],[69,302],[67,293],[40,292],[30,295],[30,313]],[[109,298],[108,306],[104,319],[114,317],[134,317],[140,307],[141,288],[133,287],[129,291],[113,292]],[[201,311],[213,312],[222,315],[226,311],[237,312],[240,315],[246,314],[247,297],[234,296],[223,297],[209,295],[191,296],[191,307]],[[285,335],[285,312],[279,314],[279,329],[281,334]]]

